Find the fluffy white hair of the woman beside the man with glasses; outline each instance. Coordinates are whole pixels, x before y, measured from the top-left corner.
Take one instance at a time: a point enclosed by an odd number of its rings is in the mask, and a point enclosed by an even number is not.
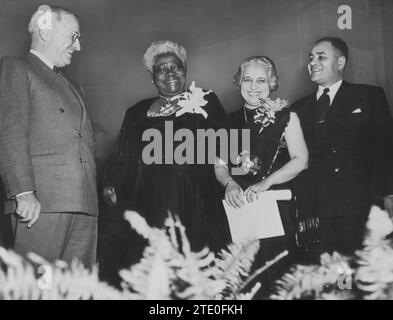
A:
[[[169,40],[154,41],[143,55],[143,64],[150,73],[153,73],[157,56],[168,53],[175,55],[183,63],[183,67],[187,69],[186,49],[182,45]]]

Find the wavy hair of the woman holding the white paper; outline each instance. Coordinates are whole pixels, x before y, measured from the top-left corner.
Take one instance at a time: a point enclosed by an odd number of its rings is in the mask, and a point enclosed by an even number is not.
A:
[[[246,66],[253,66],[257,64],[262,64],[266,67],[268,83],[270,91],[277,90],[278,88],[278,75],[276,65],[273,60],[267,56],[253,56],[244,60],[240,66],[235,76],[233,77],[233,84],[236,88],[240,88],[243,81],[243,73]]]

